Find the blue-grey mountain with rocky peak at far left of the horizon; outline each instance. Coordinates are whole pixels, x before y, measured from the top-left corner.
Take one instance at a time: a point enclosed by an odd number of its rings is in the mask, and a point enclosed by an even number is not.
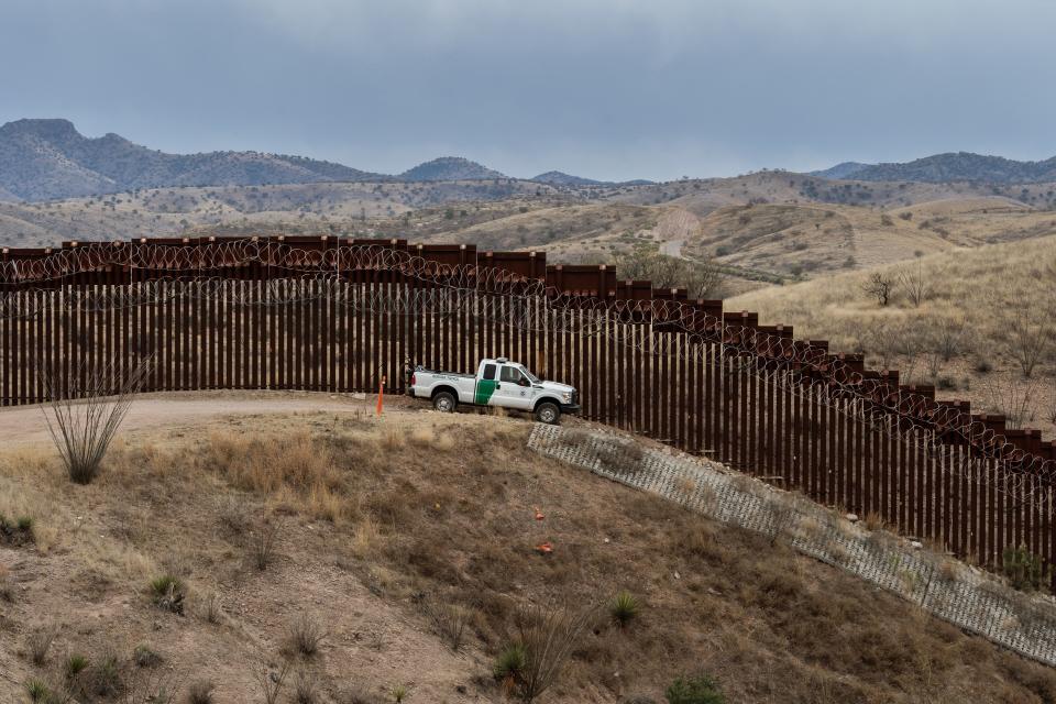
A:
[[[0,189],[25,200],[168,186],[258,186],[380,177],[340,164],[283,154],[166,154],[112,133],[86,138],[68,120],[18,120],[0,127]]]

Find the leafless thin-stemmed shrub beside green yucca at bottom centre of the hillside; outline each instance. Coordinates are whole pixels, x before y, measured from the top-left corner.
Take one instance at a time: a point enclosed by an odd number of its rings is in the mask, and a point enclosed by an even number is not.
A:
[[[496,662],[496,676],[506,681],[521,700],[534,702],[557,682],[572,652],[596,622],[594,606],[530,606],[518,610],[517,635]]]

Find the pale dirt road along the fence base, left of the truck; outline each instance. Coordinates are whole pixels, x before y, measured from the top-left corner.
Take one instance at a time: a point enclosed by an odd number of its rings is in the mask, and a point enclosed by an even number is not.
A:
[[[184,392],[146,394],[138,397],[121,425],[120,433],[152,428],[200,426],[207,418],[262,416],[326,411],[333,414],[373,414],[377,397],[356,394],[308,394],[301,392]],[[386,396],[385,413],[428,408],[404,396]],[[2,443],[23,444],[48,440],[42,406],[20,406],[0,410]]]

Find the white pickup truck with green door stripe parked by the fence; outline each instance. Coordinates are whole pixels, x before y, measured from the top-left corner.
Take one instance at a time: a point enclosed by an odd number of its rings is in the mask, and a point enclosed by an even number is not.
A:
[[[531,411],[540,422],[548,424],[557,424],[563,413],[580,410],[575,388],[544,382],[504,356],[481,360],[476,376],[418,366],[410,376],[408,393],[431,399],[432,407],[441,413],[452,413],[459,404],[502,406]]]

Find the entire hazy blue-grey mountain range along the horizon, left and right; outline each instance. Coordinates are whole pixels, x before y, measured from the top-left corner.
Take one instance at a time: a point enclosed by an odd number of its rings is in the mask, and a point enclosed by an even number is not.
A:
[[[844,162],[811,175],[859,182],[1056,182],[1056,157],[1019,162],[969,152],[935,154],[906,163]],[[355,182],[453,182],[510,178],[460,156],[441,156],[402,174],[352,168],[333,162],[264,152],[168,154],[113,133],[80,134],[68,120],[16,120],[0,127],[0,202],[97,196],[178,186],[263,186]],[[563,188],[637,186],[551,170],[522,179]]]

